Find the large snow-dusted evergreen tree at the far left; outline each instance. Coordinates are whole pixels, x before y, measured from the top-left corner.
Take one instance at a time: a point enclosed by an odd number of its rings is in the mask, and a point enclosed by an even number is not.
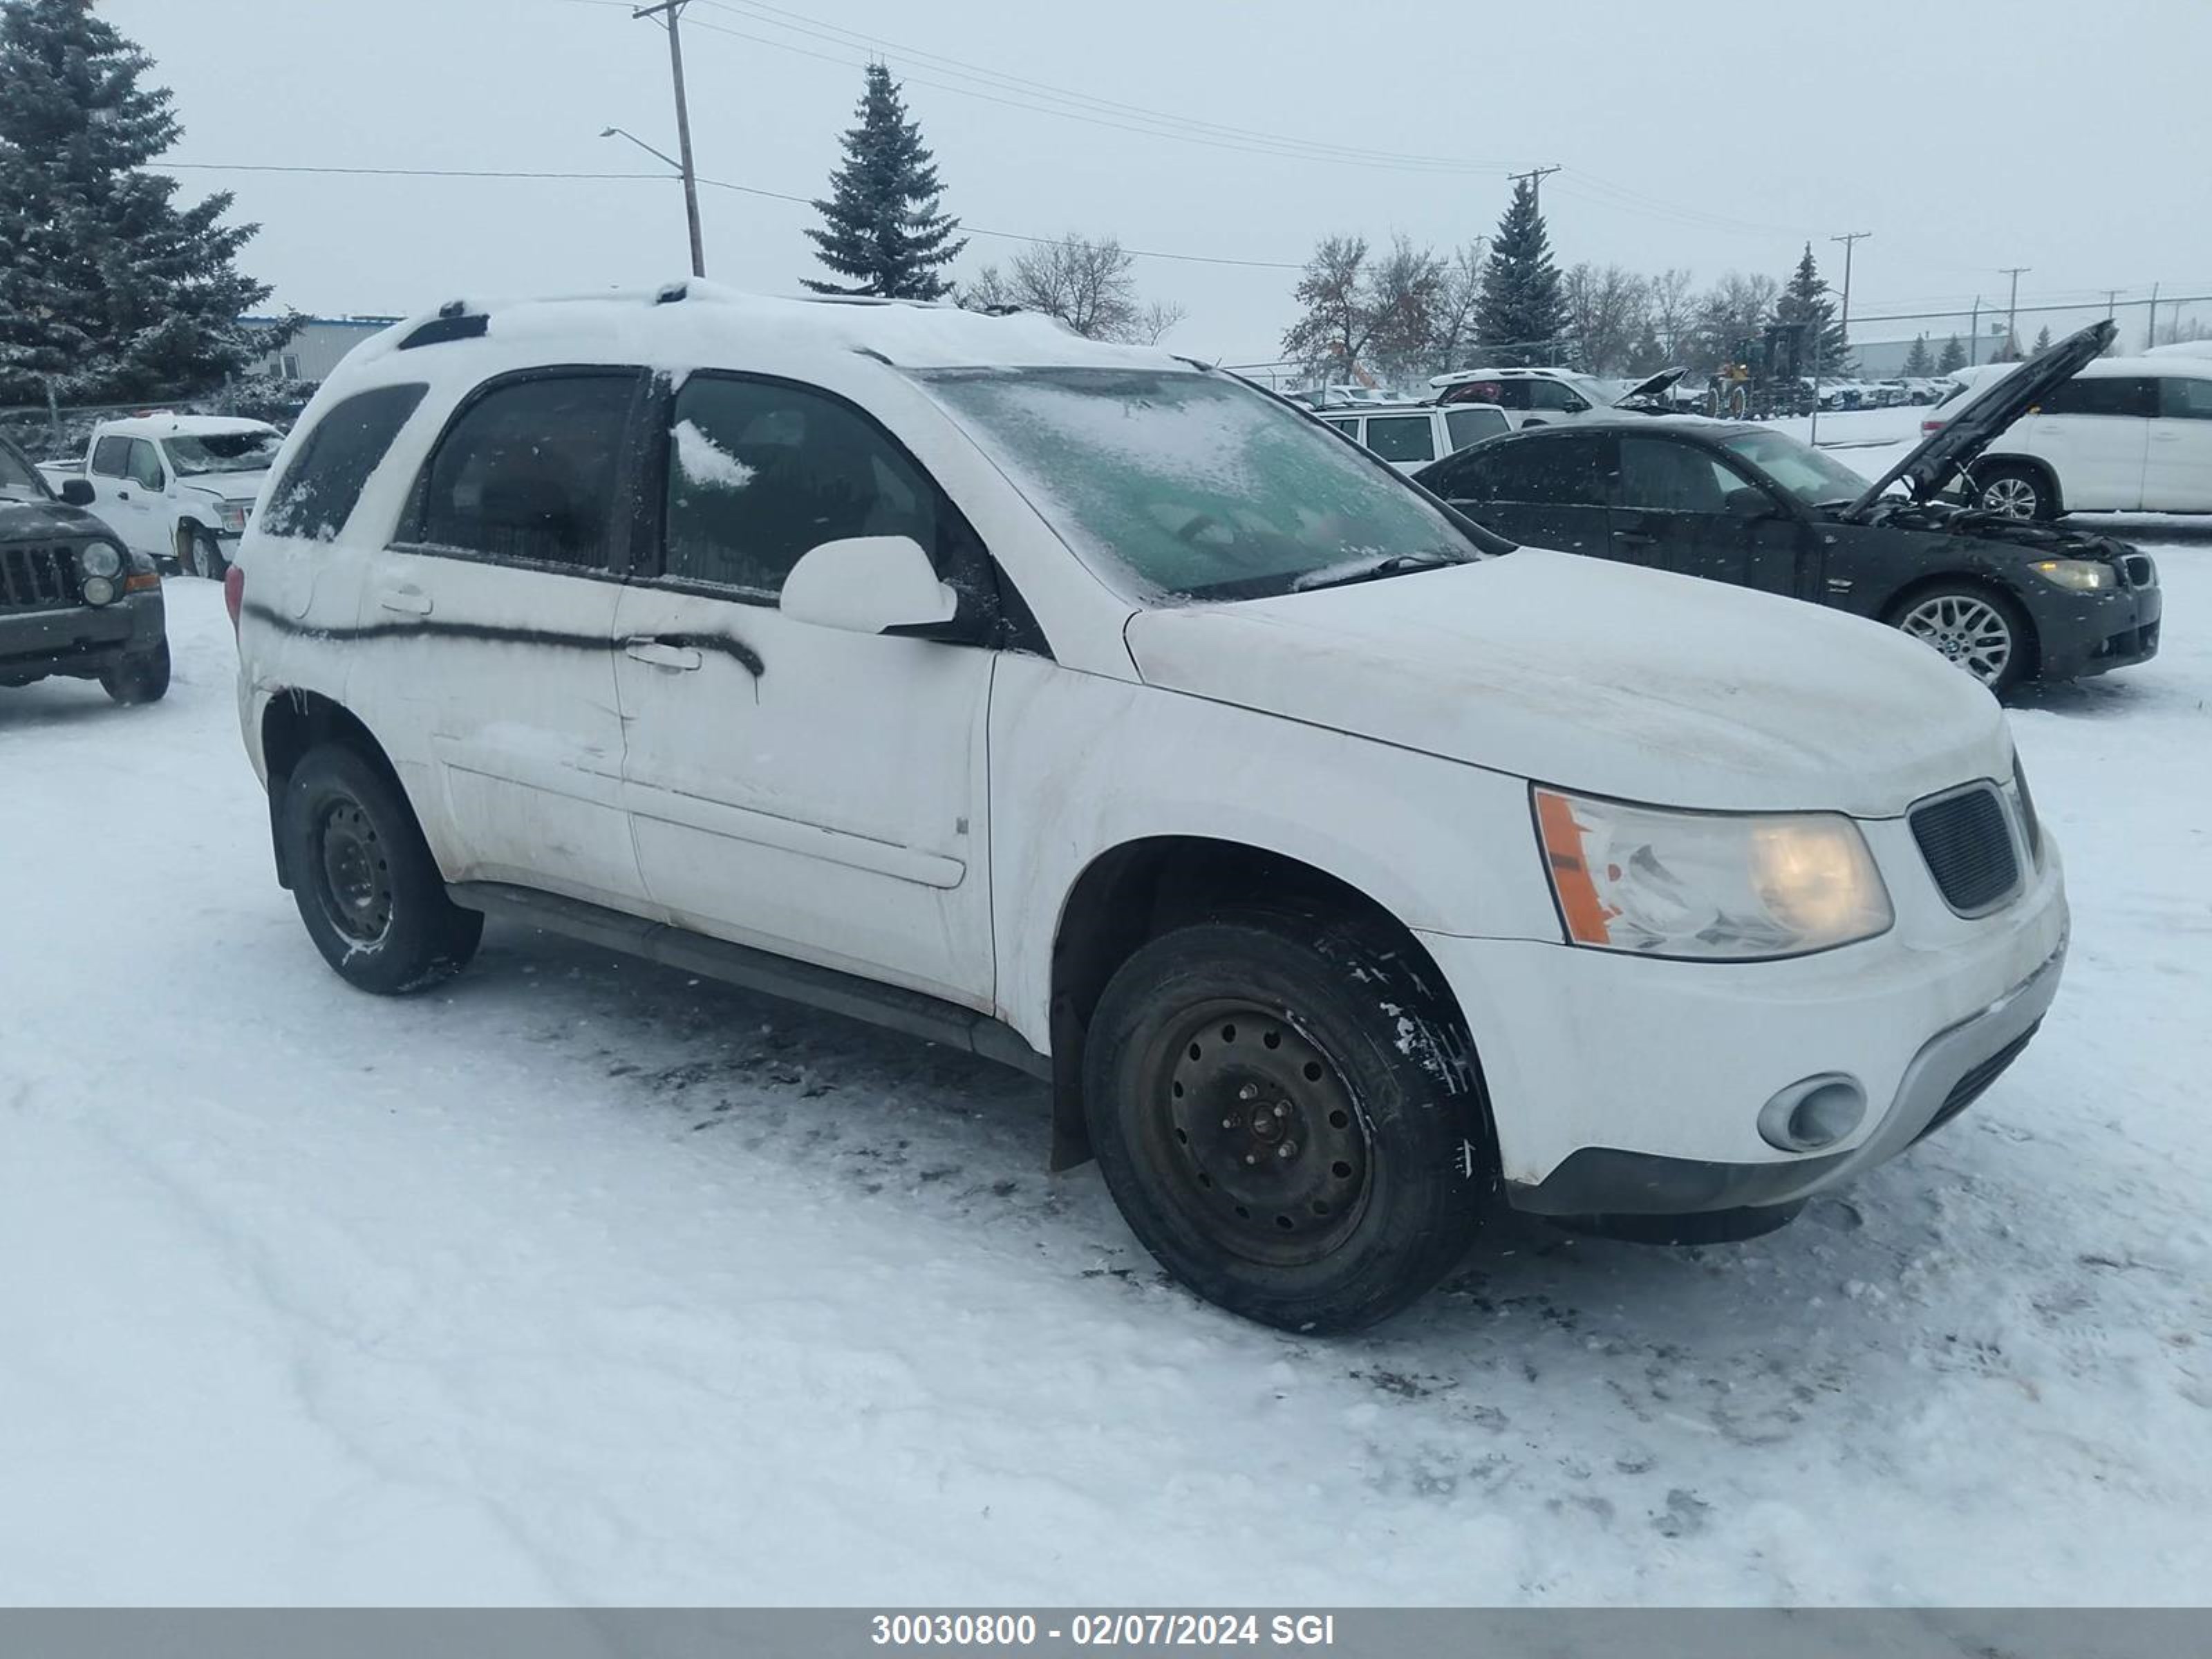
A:
[[[181,131],[150,66],[86,0],[0,0],[0,403],[201,392],[263,349],[259,226],[144,170]]]

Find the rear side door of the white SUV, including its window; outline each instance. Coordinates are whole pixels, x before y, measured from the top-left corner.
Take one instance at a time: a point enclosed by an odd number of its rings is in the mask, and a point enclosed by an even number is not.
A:
[[[361,602],[369,730],[451,880],[650,914],[622,803],[615,602],[646,376],[498,376],[451,416]]]

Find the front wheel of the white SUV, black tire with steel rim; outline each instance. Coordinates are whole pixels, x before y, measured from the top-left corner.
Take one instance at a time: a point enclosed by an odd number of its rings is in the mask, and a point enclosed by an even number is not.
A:
[[[1458,1013],[1396,940],[1325,914],[1135,951],[1091,1020],[1084,1115],[1159,1265],[1283,1329],[1398,1312],[1467,1254],[1495,1190]]]

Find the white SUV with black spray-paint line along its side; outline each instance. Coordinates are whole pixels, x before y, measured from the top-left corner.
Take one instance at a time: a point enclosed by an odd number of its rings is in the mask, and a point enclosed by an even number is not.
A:
[[[456,303],[347,356],[237,564],[343,978],[491,914],[1026,1066],[1055,1168],[1285,1327],[1405,1305],[1500,1197],[1778,1225],[2057,989],[2057,847],[1936,653],[1513,551],[1037,319]]]

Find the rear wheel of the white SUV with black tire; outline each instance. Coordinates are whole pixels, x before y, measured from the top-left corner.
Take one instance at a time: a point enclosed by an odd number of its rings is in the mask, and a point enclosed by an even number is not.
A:
[[[281,834],[299,918],[347,984],[405,995],[476,956],[484,918],[445,896],[414,810],[358,752],[325,743],[301,757]]]

